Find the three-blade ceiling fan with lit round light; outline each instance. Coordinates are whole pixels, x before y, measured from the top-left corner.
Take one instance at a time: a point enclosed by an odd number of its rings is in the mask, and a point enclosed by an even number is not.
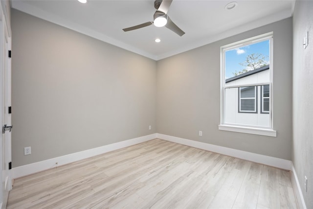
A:
[[[177,33],[179,36],[182,36],[183,34],[185,34],[185,32],[182,31],[175,23],[173,23],[173,21],[167,15],[167,11],[170,8],[172,1],[173,0],[156,0],[155,1],[156,12],[153,15],[154,19],[153,22],[138,24],[133,27],[124,28],[123,30],[126,32],[154,24],[156,25],[156,27],[165,26],[168,29],[172,30],[173,32]]]

